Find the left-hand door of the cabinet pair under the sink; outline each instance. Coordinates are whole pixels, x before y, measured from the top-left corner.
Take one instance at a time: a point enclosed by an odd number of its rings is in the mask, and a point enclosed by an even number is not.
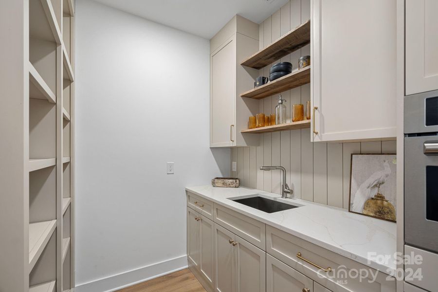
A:
[[[215,292],[235,292],[235,236],[215,223]]]

